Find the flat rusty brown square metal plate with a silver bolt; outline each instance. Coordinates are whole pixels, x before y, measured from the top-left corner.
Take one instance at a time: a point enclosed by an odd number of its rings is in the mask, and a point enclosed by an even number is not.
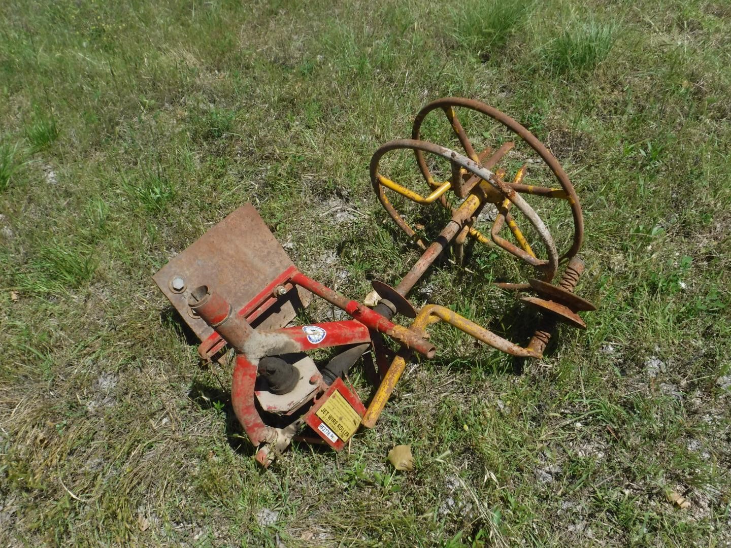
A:
[[[153,279],[186,324],[205,340],[213,330],[192,315],[188,306],[192,289],[207,285],[238,311],[292,265],[257,210],[246,203],[170,259]],[[255,327],[286,326],[295,318],[295,308],[308,305],[310,299],[310,292],[300,287],[289,291],[257,319]]]

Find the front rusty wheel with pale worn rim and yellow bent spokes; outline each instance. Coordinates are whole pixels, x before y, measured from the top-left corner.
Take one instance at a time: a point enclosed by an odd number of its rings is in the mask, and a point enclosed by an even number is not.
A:
[[[426,152],[447,160],[450,162],[450,166],[452,167],[452,178],[444,181],[444,183],[440,183],[439,185],[434,185],[436,186],[436,189],[434,189],[428,197],[422,197],[416,192],[406,189],[404,186],[401,186],[393,180],[381,175],[378,167],[382,156],[389,151],[405,149],[415,151],[419,155],[418,157],[422,159],[424,157],[423,153]],[[435,145],[432,142],[399,139],[387,142],[385,145],[382,145],[376,150],[371,158],[370,173],[371,184],[373,185],[379,201],[396,224],[398,224],[398,226],[401,227],[401,229],[403,229],[410,237],[416,237],[416,233],[411,227],[409,227],[409,224],[406,223],[401,214],[395,210],[393,205],[391,205],[389,199],[386,197],[384,188],[396,191],[398,194],[412,199],[414,202],[420,204],[431,204],[437,199],[443,198],[444,194],[450,190],[454,190],[455,194],[458,194],[459,196],[459,192],[455,189],[455,187],[463,186],[465,183],[469,185],[470,181],[472,181],[471,187],[467,189],[467,192],[464,195],[467,196],[475,193],[481,194],[479,209],[482,209],[482,205],[485,205],[485,203],[489,201],[510,201],[512,205],[515,205],[515,207],[518,208],[520,213],[523,213],[523,215],[528,218],[548,253],[548,259],[538,259],[536,256],[527,253],[522,253],[518,256],[520,256],[520,259],[523,259],[530,265],[542,271],[545,281],[550,281],[553,279],[553,276],[556,275],[556,270],[558,270],[558,251],[556,251],[556,244],[553,243],[553,237],[551,237],[550,232],[542,219],[537,215],[533,208],[531,208],[528,202],[526,202],[525,199],[523,199],[523,197],[515,191],[515,189],[512,189],[507,183],[504,183],[501,178],[491,172],[488,167],[485,167],[485,165],[482,165],[479,161],[473,161],[466,156],[450,150],[449,148],[445,148],[441,145]],[[477,183],[480,183],[481,181],[487,181],[488,184],[477,185]],[[475,218],[480,213],[479,209],[474,214]],[[471,231],[471,227],[467,226],[464,230],[464,235],[466,236],[468,230]],[[418,243],[420,244],[420,247],[425,248],[425,245],[421,240],[418,240]],[[518,250],[518,252],[520,251],[522,250]]]

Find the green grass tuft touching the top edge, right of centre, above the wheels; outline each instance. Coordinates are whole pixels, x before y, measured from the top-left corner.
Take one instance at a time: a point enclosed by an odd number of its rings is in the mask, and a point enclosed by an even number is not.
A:
[[[491,50],[506,44],[534,5],[533,1],[469,1],[467,6],[452,11],[452,34],[460,45],[488,59]]]

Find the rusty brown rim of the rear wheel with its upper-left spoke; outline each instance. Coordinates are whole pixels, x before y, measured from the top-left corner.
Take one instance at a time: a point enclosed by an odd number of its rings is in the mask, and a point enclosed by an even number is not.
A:
[[[469,142],[469,138],[466,136],[457,116],[450,112],[450,109],[452,109],[452,107],[469,108],[471,110],[476,110],[479,113],[487,115],[490,118],[493,118],[493,120],[498,121],[503,126],[507,127],[507,129],[510,129],[510,131],[518,134],[518,136],[525,142],[527,142],[528,145],[534,151],[536,151],[538,156],[540,156],[541,159],[545,161],[546,165],[548,165],[550,170],[553,172],[553,175],[555,175],[556,179],[558,179],[558,183],[561,185],[561,188],[564,189],[564,191],[566,192],[569,205],[571,206],[571,213],[574,218],[574,240],[569,250],[561,255],[560,260],[563,261],[564,259],[570,259],[572,256],[577,254],[579,249],[581,248],[581,243],[583,242],[584,221],[583,213],[581,212],[581,205],[579,203],[579,197],[574,190],[574,186],[571,184],[569,176],[564,171],[564,168],[561,167],[561,164],[558,163],[556,157],[553,156],[550,151],[548,151],[548,148],[546,148],[545,145],[543,145],[543,143],[534,136],[534,134],[529,132],[528,129],[526,129],[525,127],[521,126],[520,123],[510,118],[510,116],[502,113],[496,108],[490,107],[485,103],[475,101],[474,99],[465,99],[463,97],[443,97],[442,99],[436,99],[436,101],[432,101],[419,111],[416,118],[414,119],[412,139],[420,139],[421,124],[423,123],[426,115],[428,115],[428,113],[431,113],[432,110],[436,110],[438,108],[442,109],[447,114],[447,119],[450,121],[452,129],[454,129],[455,134],[457,134],[458,139],[463,145],[467,156],[470,156],[471,159],[474,160],[474,148],[472,148],[471,142]],[[432,180],[433,178],[431,176],[431,172],[426,165],[424,155],[422,151],[419,151],[417,149],[414,149],[414,153],[416,154],[419,169],[421,170],[422,175],[428,183],[429,180]],[[515,190],[523,191],[524,189],[517,188]]]

